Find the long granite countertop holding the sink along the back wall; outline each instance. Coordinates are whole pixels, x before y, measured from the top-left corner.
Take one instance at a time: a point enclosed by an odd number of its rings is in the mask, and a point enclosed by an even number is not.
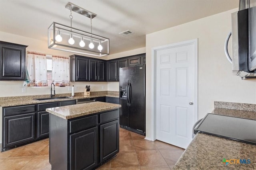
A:
[[[118,93],[118,94],[117,94]],[[55,97],[60,96],[70,96],[70,94],[56,94]],[[84,93],[75,93],[74,98],[64,98],[64,99],[53,99],[53,100],[34,100],[35,98],[49,98],[49,95],[36,95],[36,96],[16,96],[16,97],[6,97],[0,100],[0,107],[7,106],[19,106],[19,105],[27,105],[27,104],[40,104],[40,103],[48,103],[48,102],[58,102],[58,101],[66,101],[66,100],[76,100],[76,99],[84,99],[84,98],[97,98],[97,97],[115,97],[119,98],[119,92],[91,92],[90,96],[84,96]]]

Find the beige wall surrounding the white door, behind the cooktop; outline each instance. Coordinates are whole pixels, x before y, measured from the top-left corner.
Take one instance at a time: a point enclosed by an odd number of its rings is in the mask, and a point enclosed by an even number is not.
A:
[[[231,13],[236,9],[146,35],[146,137],[152,139],[153,47],[198,39],[198,119],[210,113],[214,101],[256,104],[256,80],[232,75],[224,42],[231,30]]]

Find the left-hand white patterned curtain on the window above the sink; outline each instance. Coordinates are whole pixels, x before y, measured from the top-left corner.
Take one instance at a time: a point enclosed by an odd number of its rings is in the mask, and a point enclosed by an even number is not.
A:
[[[26,58],[28,86],[47,86],[46,55],[28,51]]]

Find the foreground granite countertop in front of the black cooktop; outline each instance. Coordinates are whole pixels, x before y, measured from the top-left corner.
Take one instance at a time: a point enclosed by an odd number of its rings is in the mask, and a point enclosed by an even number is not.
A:
[[[250,159],[250,164],[222,163],[226,159]],[[184,151],[173,170],[230,169],[255,170],[256,146],[198,133]]]

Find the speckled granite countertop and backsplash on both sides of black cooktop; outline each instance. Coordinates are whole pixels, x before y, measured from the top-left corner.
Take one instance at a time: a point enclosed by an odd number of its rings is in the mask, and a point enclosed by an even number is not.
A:
[[[214,107],[215,108],[212,111],[214,114],[256,120],[256,105],[253,104],[214,102]],[[225,165],[222,163],[223,158],[226,158],[227,160],[250,159],[251,163]],[[173,168],[173,170],[186,169],[254,170],[256,169],[256,145],[250,145],[212,135],[197,133]]]

